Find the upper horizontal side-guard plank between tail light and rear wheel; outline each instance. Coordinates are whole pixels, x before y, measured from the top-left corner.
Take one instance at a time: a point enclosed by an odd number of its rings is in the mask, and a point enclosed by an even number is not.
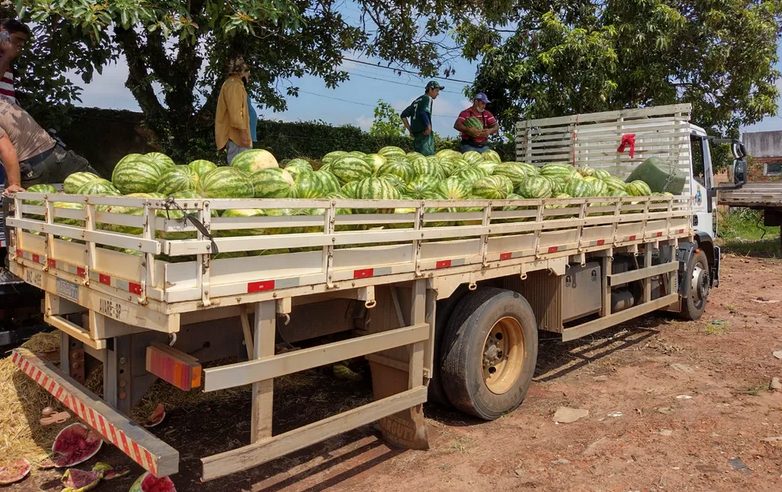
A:
[[[233,388],[286,374],[333,364],[381,350],[421,342],[429,338],[429,324],[397,328],[362,337],[285,352],[274,357],[204,369],[204,391]]]

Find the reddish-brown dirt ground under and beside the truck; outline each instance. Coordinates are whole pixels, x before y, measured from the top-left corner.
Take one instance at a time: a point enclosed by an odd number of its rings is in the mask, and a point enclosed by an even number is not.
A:
[[[782,261],[728,256],[698,322],[647,316],[563,344],[542,340],[524,404],[494,422],[427,405],[431,449],[389,448],[367,426],[206,484],[204,455],[247,442],[249,397],[170,412],[180,491],[782,490]],[[782,355],[780,355],[782,357]],[[367,378],[365,378],[367,379]],[[367,401],[322,372],[276,386],[275,433]],[[584,409],[555,423],[558,408]],[[103,461],[130,464],[109,446]],[[96,490],[127,490],[141,472]],[[59,490],[37,472],[14,490]]]

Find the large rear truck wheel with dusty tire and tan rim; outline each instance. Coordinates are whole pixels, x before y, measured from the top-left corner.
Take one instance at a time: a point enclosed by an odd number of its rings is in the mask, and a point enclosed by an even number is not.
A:
[[[538,358],[538,330],[518,292],[494,287],[462,299],[443,340],[440,374],[451,404],[494,420],[516,409]]]

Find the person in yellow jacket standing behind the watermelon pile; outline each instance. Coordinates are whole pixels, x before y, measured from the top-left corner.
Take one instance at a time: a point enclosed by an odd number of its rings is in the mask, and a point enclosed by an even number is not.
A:
[[[228,151],[228,164],[243,150],[253,146],[250,139],[250,109],[244,84],[250,69],[241,57],[228,63],[228,79],[223,82],[215,113],[217,149]]]

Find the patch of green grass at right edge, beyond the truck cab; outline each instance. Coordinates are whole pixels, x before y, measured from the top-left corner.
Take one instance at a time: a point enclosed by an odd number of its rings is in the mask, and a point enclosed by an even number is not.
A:
[[[779,249],[779,226],[763,225],[763,212],[733,208],[717,214],[717,235],[726,253],[741,256],[782,256]]]

